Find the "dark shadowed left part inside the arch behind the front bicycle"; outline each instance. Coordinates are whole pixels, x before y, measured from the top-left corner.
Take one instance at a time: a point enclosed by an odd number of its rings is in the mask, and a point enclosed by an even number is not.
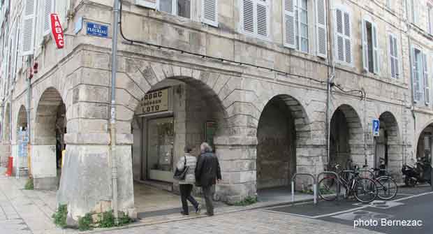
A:
[[[351,159],[351,148],[348,143],[349,131],[346,116],[344,112],[337,109],[332,115],[330,126],[330,163],[333,167],[336,164],[347,168],[349,159]],[[332,168],[329,168],[330,170]],[[347,168],[348,169],[348,168]]]

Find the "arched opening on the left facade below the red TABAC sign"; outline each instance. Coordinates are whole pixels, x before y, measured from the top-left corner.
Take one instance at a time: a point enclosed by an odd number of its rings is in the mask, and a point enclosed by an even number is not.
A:
[[[34,119],[31,134],[34,185],[36,189],[57,189],[66,130],[66,107],[57,89],[48,87],[41,94]]]

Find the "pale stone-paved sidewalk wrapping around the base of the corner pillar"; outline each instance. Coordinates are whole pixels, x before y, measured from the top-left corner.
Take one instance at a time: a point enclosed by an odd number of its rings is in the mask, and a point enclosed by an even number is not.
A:
[[[0,174],[0,230],[1,233],[80,233],[73,229],[57,228],[51,215],[56,208],[55,191],[26,191],[25,178],[16,180]],[[311,200],[298,196],[298,202]],[[286,204],[280,201],[279,204]],[[216,208],[214,217],[191,214],[168,214],[147,217],[129,226],[95,229],[85,233],[374,233],[351,226],[331,224],[288,214],[255,210],[275,203],[256,203],[248,207],[223,206]]]

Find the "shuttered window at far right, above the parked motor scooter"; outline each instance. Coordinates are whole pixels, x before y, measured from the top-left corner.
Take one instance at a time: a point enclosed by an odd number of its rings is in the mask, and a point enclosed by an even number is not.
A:
[[[427,71],[427,55],[416,47],[412,48],[411,53],[413,99],[415,102],[418,102],[424,98],[425,104],[428,105],[430,104],[430,81]]]

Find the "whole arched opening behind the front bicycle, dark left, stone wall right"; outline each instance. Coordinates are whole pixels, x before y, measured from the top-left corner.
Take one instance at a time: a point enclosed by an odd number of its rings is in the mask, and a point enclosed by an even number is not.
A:
[[[339,105],[330,122],[329,166],[340,164],[348,168],[350,161],[362,166],[365,164],[364,149],[365,139],[358,113],[351,105]]]

